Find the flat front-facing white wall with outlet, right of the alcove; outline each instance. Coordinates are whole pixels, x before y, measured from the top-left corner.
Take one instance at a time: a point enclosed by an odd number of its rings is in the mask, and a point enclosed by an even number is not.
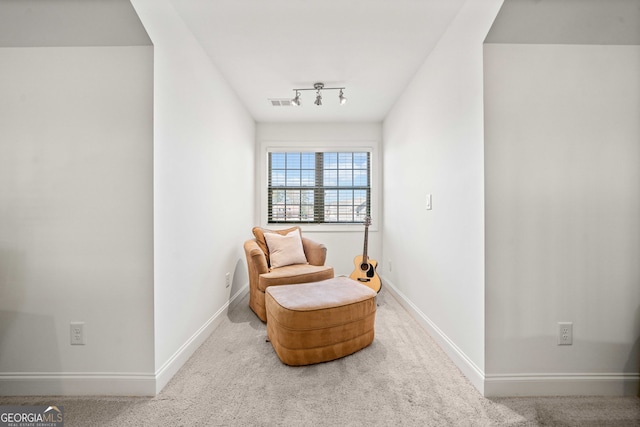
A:
[[[637,45],[485,45],[491,394],[637,393],[638,58]],[[557,345],[559,321],[572,346]]]

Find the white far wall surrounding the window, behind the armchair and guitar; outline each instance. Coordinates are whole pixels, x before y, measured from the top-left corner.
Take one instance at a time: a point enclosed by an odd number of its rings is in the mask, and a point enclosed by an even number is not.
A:
[[[382,140],[381,123],[259,123],[256,131],[258,149],[256,152],[257,188],[266,188],[266,153],[269,146],[293,147],[372,147],[373,153],[373,187],[376,200],[372,201],[372,226],[369,228],[368,255],[379,260],[380,240],[380,206],[381,191],[381,155]],[[257,191],[255,199],[256,225],[268,228],[283,228],[266,224],[266,198],[264,191]],[[348,275],[355,266],[353,259],[362,255],[364,243],[364,227],[357,225],[322,226],[313,224],[301,225],[305,237],[324,243],[327,246],[327,265],[334,268],[336,275]],[[247,236],[252,237],[251,235]]]

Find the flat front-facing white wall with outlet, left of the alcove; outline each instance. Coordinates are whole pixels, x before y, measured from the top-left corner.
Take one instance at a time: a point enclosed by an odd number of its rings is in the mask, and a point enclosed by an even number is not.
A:
[[[150,45],[0,49],[0,394],[153,383],[152,78]]]

